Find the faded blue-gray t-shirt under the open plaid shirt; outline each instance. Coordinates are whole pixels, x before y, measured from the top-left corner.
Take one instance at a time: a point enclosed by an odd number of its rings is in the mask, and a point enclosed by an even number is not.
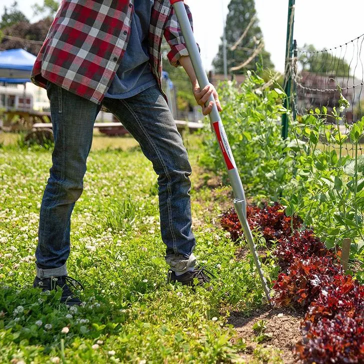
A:
[[[148,33],[154,0],[134,0],[130,37],[105,96],[127,98],[156,84],[149,67]]]

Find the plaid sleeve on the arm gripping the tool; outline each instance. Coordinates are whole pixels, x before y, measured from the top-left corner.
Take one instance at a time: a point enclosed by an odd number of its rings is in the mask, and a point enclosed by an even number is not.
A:
[[[184,6],[187,11],[189,22],[193,29],[191,11],[189,10],[188,5],[184,4]],[[183,35],[182,35],[181,29],[178,24],[177,16],[174,13],[173,7],[170,10],[168,20],[164,27],[164,37],[170,46],[170,51],[167,54],[169,63],[172,66],[177,67],[180,65],[178,59],[182,55],[188,55],[188,51],[187,51],[186,45],[184,43]],[[197,46],[198,46],[198,44],[197,44]],[[198,50],[199,50],[199,47],[198,47]]]

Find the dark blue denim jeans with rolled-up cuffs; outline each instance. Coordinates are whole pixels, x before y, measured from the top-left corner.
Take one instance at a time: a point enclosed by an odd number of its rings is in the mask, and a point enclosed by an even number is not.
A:
[[[101,107],[51,82],[47,84],[47,94],[54,150],[40,207],[35,251],[39,278],[67,274],[71,213],[82,193],[93,123]],[[130,98],[106,97],[103,104],[139,142],[158,175],[160,231],[166,245],[166,262],[176,272],[193,267],[191,167],[164,97],[157,86],[152,86]]]

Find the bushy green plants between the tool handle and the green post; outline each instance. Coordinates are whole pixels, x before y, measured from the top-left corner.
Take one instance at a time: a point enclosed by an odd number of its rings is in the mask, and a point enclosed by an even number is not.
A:
[[[284,92],[279,87],[266,87],[261,77],[250,72],[241,87],[227,82],[219,94],[223,100],[221,118],[244,187],[259,202],[261,198],[276,201],[290,178],[286,142],[280,135],[280,118],[286,112]],[[209,128],[207,132],[200,163],[221,171],[226,180],[218,144]]]

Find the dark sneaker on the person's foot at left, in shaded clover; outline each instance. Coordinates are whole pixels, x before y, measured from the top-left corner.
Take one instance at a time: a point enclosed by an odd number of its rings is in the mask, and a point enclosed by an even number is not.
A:
[[[83,285],[78,280],[69,277],[68,275],[43,279],[36,276],[33,282],[33,287],[41,288],[43,291],[53,290],[56,287],[60,287],[62,288],[62,296],[60,297],[61,303],[65,303],[67,306],[80,305],[81,300],[73,294],[73,292],[69,289],[68,284],[74,289],[78,289],[79,287],[83,289]]]

